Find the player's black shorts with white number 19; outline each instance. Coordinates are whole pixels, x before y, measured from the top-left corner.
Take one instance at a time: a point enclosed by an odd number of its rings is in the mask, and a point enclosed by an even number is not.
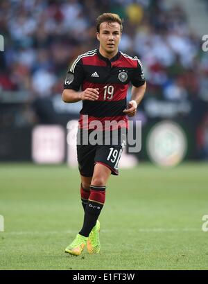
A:
[[[95,145],[89,143],[89,133],[83,134],[84,131],[78,130],[78,135],[85,136],[85,143],[83,143],[83,139],[80,139],[80,136],[77,139],[77,159],[80,175],[92,177],[96,163],[101,163],[110,168],[112,175],[119,175],[118,164],[123,148],[126,145],[126,130],[123,129],[116,134],[116,141],[112,139],[114,132],[108,132],[108,134],[103,132],[103,142]],[[106,140],[106,136],[110,139]]]

